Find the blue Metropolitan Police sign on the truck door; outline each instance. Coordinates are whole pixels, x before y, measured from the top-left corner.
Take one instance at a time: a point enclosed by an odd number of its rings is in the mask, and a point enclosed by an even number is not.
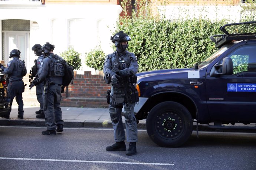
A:
[[[228,83],[228,92],[256,92],[256,84]]]

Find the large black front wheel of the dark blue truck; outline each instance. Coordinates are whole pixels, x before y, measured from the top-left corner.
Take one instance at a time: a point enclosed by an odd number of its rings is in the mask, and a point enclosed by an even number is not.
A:
[[[148,136],[161,147],[178,147],[191,136],[190,112],[177,102],[162,102],[150,110],[146,121]]]

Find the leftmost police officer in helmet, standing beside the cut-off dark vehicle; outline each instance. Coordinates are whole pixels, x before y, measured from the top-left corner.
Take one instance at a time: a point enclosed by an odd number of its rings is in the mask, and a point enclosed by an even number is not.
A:
[[[23,76],[27,74],[25,62],[21,61],[20,50],[14,49],[10,52],[9,58],[13,58],[7,63],[7,67],[0,64],[0,68],[8,75],[9,83],[7,85],[7,93],[10,97],[10,111],[12,110],[12,103],[15,97],[18,107],[18,118],[23,119],[23,100],[22,93],[24,92]]]

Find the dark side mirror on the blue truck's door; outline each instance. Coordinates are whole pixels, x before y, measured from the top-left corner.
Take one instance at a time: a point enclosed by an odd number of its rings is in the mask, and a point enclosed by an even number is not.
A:
[[[211,68],[210,76],[218,75],[232,75],[233,74],[233,61],[230,57],[223,58],[221,64],[216,63],[213,68]]]

